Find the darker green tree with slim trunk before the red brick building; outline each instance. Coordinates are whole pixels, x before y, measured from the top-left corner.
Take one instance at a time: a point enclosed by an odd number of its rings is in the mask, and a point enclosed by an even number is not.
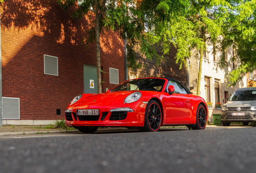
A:
[[[162,36],[157,36],[154,32],[159,28],[159,22],[170,18],[170,12],[178,16],[185,11],[187,4],[182,0],[176,1],[163,3],[165,1],[162,0],[58,0],[64,9],[79,2],[72,17],[81,18],[88,15],[93,20],[94,25],[88,31],[89,37],[85,40],[87,43],[93,41],[96,43],[98,93],[101,93],[100,34],[108,29],[120,33],[126,41],[128,67],[141,66],[136,61],[136,52],[140,52],[150,60],[156,59],[159,63],[165,57],[157,55],[152,45],[159,44]],[[168,10],[168,13],[164,10]]]

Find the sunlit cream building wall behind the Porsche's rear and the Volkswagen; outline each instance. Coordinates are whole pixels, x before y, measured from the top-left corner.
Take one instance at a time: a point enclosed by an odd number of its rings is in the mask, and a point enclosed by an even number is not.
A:
[[[210,102],[212,103],[212,108],[209,108],[209,121],[213,121],[213,114],[221,113],[221,109],[215,108],[215,80],[219,81],[219,102],[221,106],[225,104],[225,92],[227,98],[239,88],[244,88],[247,86],[246,78],[242,82],[236,84],[235,87],[229,86],[228,73],[237,66],[236,63],[231,61],[233,57],[233,49],[229,48],[225,53],[226,62],[225,67],[221,69],[219,67],[220,54],[215,54],[215,61],[213,60],[213,46],[207,45],[206,56],[203,58],[202,62],[202,75],[201,75],[201,85],[200,85],[200,96],[206,99],[206,89],[205,89],[205,77],[210,78]],[[199,69],[199,54],[194,50],[192,56],[190,57],[190,91],[194,94],[197,93],[197,78],[198,78],[198,69]]]

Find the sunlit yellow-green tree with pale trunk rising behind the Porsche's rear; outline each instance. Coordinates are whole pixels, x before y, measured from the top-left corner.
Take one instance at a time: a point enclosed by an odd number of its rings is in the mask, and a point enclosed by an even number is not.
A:
[[[169,51],[170,43],[176,46],[178,52],[175,58],[176,63],[180,63],[180,68],[183,63],[186,64],[186,58],[190,57],[192,50],[196,49],[199,52],[197,95],[200,95],[202,58],[206,50],[206,42],[215,45],[221,34],[221,21],[213,20],[214,16],[210,12],[213,6],[219,4],[203,0],[187,0],[184,3],[187,7],[185,13],[175,16],[170,11],[169,18],[165,18],[156,33],[160,37],[163,36],[164,52]]]

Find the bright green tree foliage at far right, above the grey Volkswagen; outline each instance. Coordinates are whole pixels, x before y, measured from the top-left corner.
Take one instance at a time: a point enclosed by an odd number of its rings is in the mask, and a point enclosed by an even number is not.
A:
[[[230,85],[242,80],[247,72],[256,69],[256,1],[237,0],[226,10],[222,27],[222,45],[232,46],[234,59],[241,64],[229,74]],[[223,46],[223,48],[226,48]]]

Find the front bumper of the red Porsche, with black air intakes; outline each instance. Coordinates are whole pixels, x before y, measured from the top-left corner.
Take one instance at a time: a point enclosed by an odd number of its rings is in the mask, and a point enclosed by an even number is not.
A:
[[[122,107],[126,107],[123,106]],[[133,108],[132,108],[133,107]],[[111,109],[121,108],[104,106],[104,107],[90,107],[90,109],[99,109],[99,115],[76,115],[76,108],[67,108],[65,112],[66,126],[98,126],[98,127],[143,127],[145,110],[147,104],[138,103],[130,107],[133,112],[129,111],[114,111]],[[134,108],[135,107],[135,108]]]

